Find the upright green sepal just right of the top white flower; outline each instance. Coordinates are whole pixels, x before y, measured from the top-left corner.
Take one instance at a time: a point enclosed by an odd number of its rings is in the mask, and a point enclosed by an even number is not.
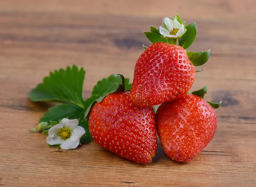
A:
[[[197,28],[195,22],[190,23],[185,27],[187,30],[182,37],[179,38],[179,46],[182,46],[184,49],[189,48],[192,43],[195,41]]]

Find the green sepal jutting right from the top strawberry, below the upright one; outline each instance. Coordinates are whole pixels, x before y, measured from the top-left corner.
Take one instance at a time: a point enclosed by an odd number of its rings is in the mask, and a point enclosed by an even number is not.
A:
[[[186,54],[188,55],[189,60],[193,63],[194,66],[201,66],[207,62],[211,53],[211,49],[208,51],[201,51],[201,52],[190,52],[187,51]]]

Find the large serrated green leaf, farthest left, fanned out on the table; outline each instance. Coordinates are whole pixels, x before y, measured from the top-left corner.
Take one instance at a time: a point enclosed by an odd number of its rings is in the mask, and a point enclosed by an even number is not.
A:
[[[79,70],[75,65],[72,69],[68,66],[66,70],[50,72],[43,83],[29,92],[29,98],[32,101],[62,102],[84,108],[82,97],[84,75],[84,69]]]

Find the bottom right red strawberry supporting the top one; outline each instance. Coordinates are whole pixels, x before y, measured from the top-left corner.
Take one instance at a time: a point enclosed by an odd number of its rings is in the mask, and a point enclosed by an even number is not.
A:
[[[160,105],[156,121],[163,150],[178,162],[195,158],[209,144],[217,129],[215,109],[192,94]]]

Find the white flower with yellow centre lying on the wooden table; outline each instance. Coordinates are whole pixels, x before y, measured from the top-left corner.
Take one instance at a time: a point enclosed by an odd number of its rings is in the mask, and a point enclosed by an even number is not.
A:
[[[77,126],[78,119],[63,118],[59,124],[48,131],[46,141],[50,145],[61,144],[61,149],[70,150],[79,145],[80,138],[85,134],[83,127]]]

